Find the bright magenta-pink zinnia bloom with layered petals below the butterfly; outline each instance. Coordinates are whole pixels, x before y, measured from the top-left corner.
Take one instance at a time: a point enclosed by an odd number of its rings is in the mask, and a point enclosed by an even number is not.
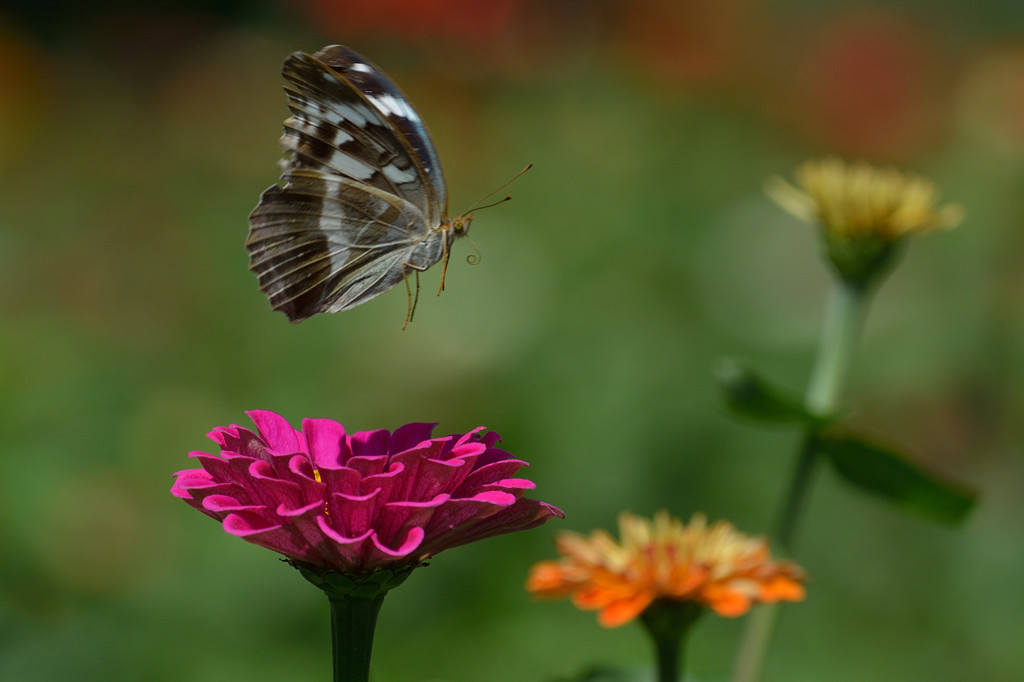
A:
[[[257,433],[218,427],[220,456],[194,452],[171,493],[232,536],[312,566],[360,576],[413,567],[476,540],[562,518],[522,497],[526,463],[483,427],[431,437],[435,424],[348,434],[338,422],[302,429],[272,412],[247,413]]]

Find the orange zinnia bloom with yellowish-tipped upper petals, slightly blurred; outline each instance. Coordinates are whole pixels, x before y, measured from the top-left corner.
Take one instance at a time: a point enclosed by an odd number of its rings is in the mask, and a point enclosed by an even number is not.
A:
[[[731,523],[689,524],[659,511],[653,520],[624,512],[622,541],[604,530],[589,538],[561,532],[558,561],[530,569],[526,589],[541,597],[571,596],[578,608],[599,610],[607,628],[629,623],[655,599],[692,601],[720,615],[745,613],[755,603],[800,601],[804,573],[791,561],[772,561],[764,538]]]

